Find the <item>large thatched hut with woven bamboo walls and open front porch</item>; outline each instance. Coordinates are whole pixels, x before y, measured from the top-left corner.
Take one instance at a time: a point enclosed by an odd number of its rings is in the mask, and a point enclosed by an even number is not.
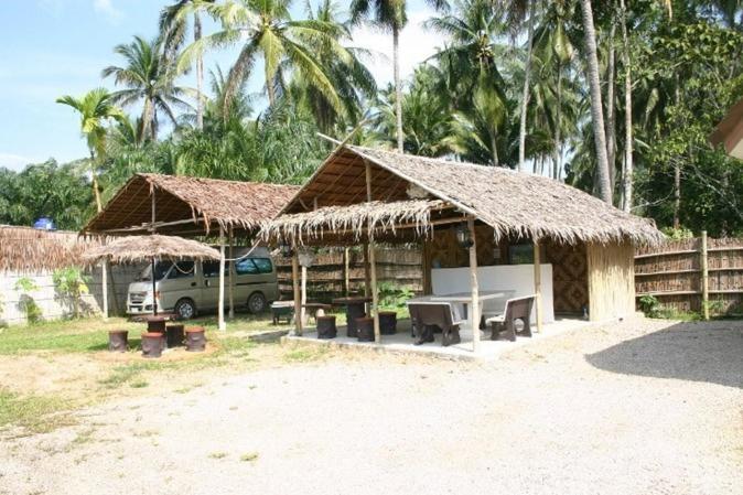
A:
[[[471,248],[457,245],[457,230],[469,232]],[[652,220],[548,177],[354,146],[338,146],[263,236],[294,246],[418,240],[428,291],[431,268],[469,266],[474,293],[478,266],[513,263],[526,245],[535,267],[554,268],[556,310],[588,306],[592,320],[634,312],[634,245],[663,239]]]

